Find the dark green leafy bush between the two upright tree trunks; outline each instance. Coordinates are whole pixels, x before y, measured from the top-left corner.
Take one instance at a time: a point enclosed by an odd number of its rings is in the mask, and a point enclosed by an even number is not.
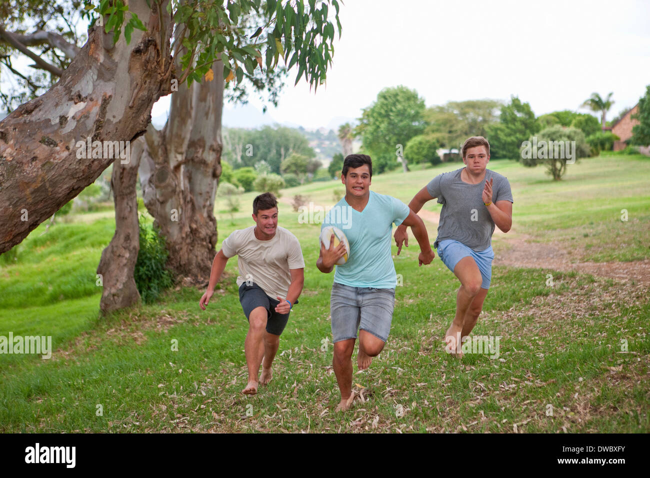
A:
[[[153,226],[144,226],[144,217],[140,217],[140,251],[135,263],[133,278],[138,287],[142,302],[151,304],[164,289],[171,287],[174,282],[172,274],[165,268],[167,263],[166,241],[160,231]]]

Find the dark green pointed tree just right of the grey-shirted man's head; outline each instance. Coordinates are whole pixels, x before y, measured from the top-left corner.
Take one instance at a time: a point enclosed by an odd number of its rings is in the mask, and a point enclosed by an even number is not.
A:
[[[535,113],[530,105],[512,96],[510,103],[501,107],[499,122],[487,127],[490,157],[519,161],[521,143],[536,131]]]

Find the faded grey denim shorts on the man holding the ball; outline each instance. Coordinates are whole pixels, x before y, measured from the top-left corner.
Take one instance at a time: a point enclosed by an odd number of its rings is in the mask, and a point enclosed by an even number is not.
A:
[[[395,289],[331,286],[331,334],[335,342],[356,339],[357,329],[386,341],[391,331]]]

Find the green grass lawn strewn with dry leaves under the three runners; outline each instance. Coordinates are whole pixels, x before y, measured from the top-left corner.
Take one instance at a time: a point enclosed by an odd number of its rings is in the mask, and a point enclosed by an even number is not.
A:
[[[408,202],[436,174],[458,167],[383,174],[372,190]],[[584,159],[558,182],[512,161],[488,167],[512,184],[506,237],[560,242],[582,260],[649,257],[650,159]],[[45,234],[39,226],[0,257],[0,336],[52,336],[54,351],[50,360],[0,354],[0,431],[650,431],[650,302],[642,286],[495,267],[474,335],[498,337],[498,348],[459,361],[442,341],[457,281],[437,258],[418,267],[415,241],[400,256],[393,246],[402,285],[386,347],[353,377],[361,399],[334,414],[333,276],[315,267],[320,225],[299,222],[290,204],[302,194],[331,206],[342,191],[340,181],[283,191],[279,225],[300,239],[305,289],[282,335],[274,379],[253,397],[240,394],[247,326],[235,260],[205,312],[202,290],[177,287],[156,304],[99,319],[95,274],[114,230],[111,213],[73,217]],[[240,196],[233,219],[217,200],[220,241],[252,224],[255,194]],[[433,242],[435,226],[427,225]],[[502,241],[495,237],[497,254]]]

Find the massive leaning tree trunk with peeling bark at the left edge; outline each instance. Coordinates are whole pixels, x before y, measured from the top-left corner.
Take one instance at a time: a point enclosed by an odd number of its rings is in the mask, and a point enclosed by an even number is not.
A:
[[[0,122],[0,254],[98,178],[115,159],[105,154],[106,142],[135,140],[146,130],[174,71],[167,3],[159,15],[155,2],[129,1],[147,32],[113,45],[112,32],[94,27],[59,82]],[[95,157],[87,157],[87,141]]]

